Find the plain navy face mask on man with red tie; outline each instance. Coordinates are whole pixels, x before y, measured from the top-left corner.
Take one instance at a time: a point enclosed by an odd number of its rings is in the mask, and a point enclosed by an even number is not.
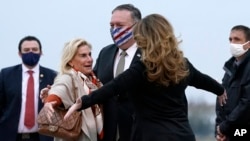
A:
[[[29,52],[22,54],[22,60],[25,65],[35,66],[40,59],[40,54]]]

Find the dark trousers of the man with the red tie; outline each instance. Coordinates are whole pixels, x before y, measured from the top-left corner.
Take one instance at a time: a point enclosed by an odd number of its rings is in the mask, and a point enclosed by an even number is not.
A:
[[[38,133],[18,133],[16,141],[39,141]]]

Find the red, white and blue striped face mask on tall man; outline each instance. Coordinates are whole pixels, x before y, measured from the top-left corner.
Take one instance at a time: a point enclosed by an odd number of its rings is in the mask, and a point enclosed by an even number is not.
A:
[[[132,27],[133,25],[127,28],[119,27],[110,29],[113,41],[118,47],[125,44],[129,39],[133,37]]]

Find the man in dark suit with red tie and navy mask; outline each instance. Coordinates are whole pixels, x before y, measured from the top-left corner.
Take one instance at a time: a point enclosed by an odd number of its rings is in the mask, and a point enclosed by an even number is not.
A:
[[[52,85],[56,72],[39,65],[42,46],[36,37],[24,37],[18,49],[22,64],[0,72],[0,139],[52,141],[52,137],[37,133],[36,118],[43,106],[39,92]]]

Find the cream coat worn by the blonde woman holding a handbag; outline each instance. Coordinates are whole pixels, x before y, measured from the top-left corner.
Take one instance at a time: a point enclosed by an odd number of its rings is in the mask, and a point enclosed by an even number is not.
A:
[[[56,77],[54,84],[52,85],[49,94],[55,94],[59,96],[63,102],[63,105],[68,109],[74,104],[76,99],[74,98],[74,84],[77,97],[87,95],[88,92],[84,89],[84,81],[81,79],[84,76],[82,73],[71,71],[71,75],[63,74]],[[72,79],[73,77],[73,79]],[[72,83],[74,81],[74,84]],[[85,85],[86,86],[86,85]],[[82,133],[77,141],[97,141],[97,125],[94,114],[91,108],[82,110]],[[54,138],[55,141],[67,141],[61,138]]]

